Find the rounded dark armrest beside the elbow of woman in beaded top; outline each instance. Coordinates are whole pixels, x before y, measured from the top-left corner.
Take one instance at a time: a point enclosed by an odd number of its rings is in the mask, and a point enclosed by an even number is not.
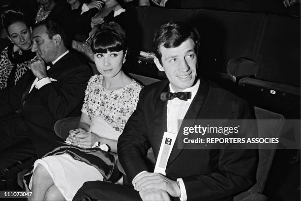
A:
[[[54,125],[57,136],[66,139],[69,131],[77,128],[80,118],[80,116],[73,116],[58,120]]]

